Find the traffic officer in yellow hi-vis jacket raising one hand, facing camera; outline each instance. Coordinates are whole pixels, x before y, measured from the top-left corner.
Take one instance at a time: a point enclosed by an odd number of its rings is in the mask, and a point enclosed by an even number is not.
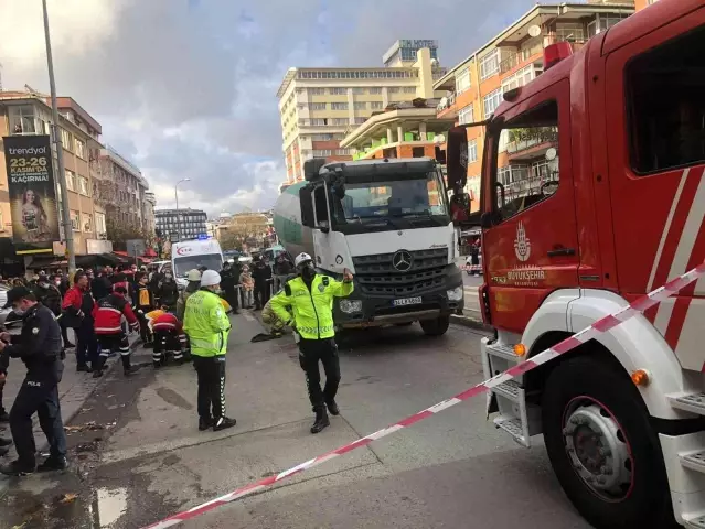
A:
[[[284,289],[271,299],[274,312],[301,336],[299,364],[306,371],[309,400],[316,412],[311,433],[318,433],[330,424],[328,411],[338,415],[335,393],[340,384],[340,360],[335,345],[333,325],[333,298],[345,298],[354,289],[350,270],[343,271],[343,281],[316,273],[313,260],[308,253],[299,253],[295,261],[299,276],[285,283]],[[293,311],[293,319],[287,312]],[[296,322],[296,327],[293,327]],[[319,360],[325,371],[325,387],[321,391]]]

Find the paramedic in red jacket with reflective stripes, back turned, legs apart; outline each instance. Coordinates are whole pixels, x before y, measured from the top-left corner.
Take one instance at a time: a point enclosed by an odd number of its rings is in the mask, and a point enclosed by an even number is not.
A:
[[[95,305],[93,314],[95,317],[95,332],[100,342],[100,356],[97,369],[94,368],[93,370],[94,378],[103,376],[103,368],[108,356],[111,352],[117,350],[120,352],[125,376],[133,373],[130,365],[130,343],[127,339],[127,334],[122,331],[120,322],[122,316],[125,316],[132,331],[139,328],[139,322],[135,317],[132,307],[125,299],[126,295],[127,289],[125,287],[116,287],[110,295],[103,298]]]

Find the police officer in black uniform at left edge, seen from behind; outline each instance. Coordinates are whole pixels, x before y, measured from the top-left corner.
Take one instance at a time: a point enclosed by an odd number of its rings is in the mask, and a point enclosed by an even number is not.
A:
[[[6,307],[10,305],[22,316],[22,333],[20,336],[0,334],[0,358],[3,361],[20,358],[26,366],[26,376],[10,410],[10,431],[19,457],[0,466],[0,473],[21,476],[35,469],[61,471],[68,466],[58,403],[58,382],[64,373],[61,328],[52,311],[39,303],[25,287],[8,291]],[[34,461],[34,413],[50,445],[50,455],[39,467]]]

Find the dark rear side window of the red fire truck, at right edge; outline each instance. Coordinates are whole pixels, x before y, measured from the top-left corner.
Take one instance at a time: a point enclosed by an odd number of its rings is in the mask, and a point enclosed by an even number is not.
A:
[[[649,174],[705,162],[703,71],[703,26],[627,64],[624,94],[629,97],[623,106],[634,172]]]

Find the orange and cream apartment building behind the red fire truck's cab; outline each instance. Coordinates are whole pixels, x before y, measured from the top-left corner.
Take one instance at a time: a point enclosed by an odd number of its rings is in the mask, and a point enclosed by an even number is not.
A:
[[[492,116],[506,90],[523,86],[544,71],[544,47],[556,42],[569,42],[574,50],[587,40],[606,31],[634,12],[633,0],[587,3],[536,4],[514,24],[496,35],[439,79],[434,88],[442,90],[438,118],[452,118],[457,123],[472,123]],[[541,134],[540,134],[541,136]],[[468,184],[471,198],[479,197],[480,171],[484,132],[482,127],[468,129]],[[544,179],[549,172],[545,158],[533,159],[538,152],[532,148],[536,141],[509,139],[502,149],[504,166],[500,174],[505,181],[516,182]],[[473,210],[479,203],[473,199]]]

